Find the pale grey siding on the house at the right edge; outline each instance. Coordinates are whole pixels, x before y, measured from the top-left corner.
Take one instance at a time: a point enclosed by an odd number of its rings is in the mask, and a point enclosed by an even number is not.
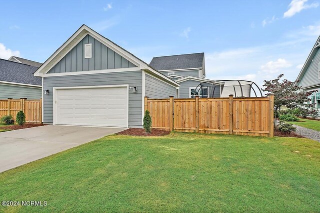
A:
[[[305,70],[298,86],[302,88],[315,86],[320,84],[319,79],[319,63],[320,63],[320,48],[317,49],[313,56],[313,61],[310,62],[309,66]]]

